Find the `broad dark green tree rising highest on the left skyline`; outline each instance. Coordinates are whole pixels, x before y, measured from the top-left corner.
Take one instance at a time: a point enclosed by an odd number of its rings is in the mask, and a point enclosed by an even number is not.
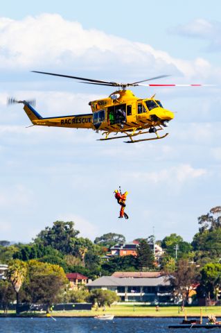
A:
[[[35,238],[35,244],[43,246],[51,246],[64,254],[73,254],[78,230],[73,229],[74,223],[56,221],[53,227],[46,227],[45,230],[39,232]]]

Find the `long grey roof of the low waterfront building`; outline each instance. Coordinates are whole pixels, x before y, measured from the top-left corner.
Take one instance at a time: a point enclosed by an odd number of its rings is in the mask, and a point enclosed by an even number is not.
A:
[[[159,276],[159,278],[115,278],[114,276],[103,276],[89,282],[87,287],[157,287],[157,286],[170,286],[170,281],[166,276]]]

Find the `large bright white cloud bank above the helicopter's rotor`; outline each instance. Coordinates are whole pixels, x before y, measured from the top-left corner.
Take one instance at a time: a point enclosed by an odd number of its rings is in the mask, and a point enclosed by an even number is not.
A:
[[[148,76],[166,73],[205,78],[205,69],[206,73],[212,71],[209,62],[202,58],[176,59],[148,44],[84,29],[80,23],[66,21],[58,14],[26,17],[21,21],[0,19],[2,70],[49,71],[58,67],[59,71],[69,73],[88,68],[99,71],[105,67],[108,76],[113,72],[118,75],[120,70],[128,79],[135,74],[143,77],[143,72]]]

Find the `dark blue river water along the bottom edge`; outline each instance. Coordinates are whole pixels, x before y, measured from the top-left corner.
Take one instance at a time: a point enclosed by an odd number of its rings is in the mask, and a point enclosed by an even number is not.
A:
[[[181,318],[114,318],[98,321],[94,318],[0,318],[0,333],[182,333],[189,330],[169,330]],[[195,333],[208,332],[200,328]],[[220,332],[218,328],[213,333]]]

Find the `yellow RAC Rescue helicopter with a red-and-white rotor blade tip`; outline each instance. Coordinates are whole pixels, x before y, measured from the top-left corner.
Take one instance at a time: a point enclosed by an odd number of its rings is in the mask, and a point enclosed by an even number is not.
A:
[[[128,87],[174,87],[177,85],[154,85],[143,84],[146,81],[165,78],[169,75],[155,76],[134,83],[116,83],[105,80],[94,80],[91,78],[80,78],[78,76],[69,76],[63,74],[48,73],[45,71],[32,71],[37,74],[46,74],[51,76],[60,76],[64,78],[72,78],[80,80],[80,83],[89,85],[103,85],[107,87],[117,87],[118,90],[112,92],[109,97],[90,101],[91,113],[73,114],[60,117],[42,117],[32,106],[31,101],[16,101],[9,99],[8,103],[23,103],[24,111],[28,115],[33,125],[37,126],[56,126],[64,128],[88,128],[99,131],[104,135],[98,139],[99,141],[107,141],[112,139],[130,139],[125,143],[135,143],[142,141],[150,141],[163,139],[168,135],[159,135],[159,130],[168,127],[169,121],[174,118],[174,113],[163,108],[161,101],[155,99],[155,94],[150,98],[139,99],[134,93],[127,89]],[[202,86],[202,85],[178,85],[178,86]],[[150,135],[154,133],[154,137],[145,139],[134,139],[134,137],[144,134]]]

